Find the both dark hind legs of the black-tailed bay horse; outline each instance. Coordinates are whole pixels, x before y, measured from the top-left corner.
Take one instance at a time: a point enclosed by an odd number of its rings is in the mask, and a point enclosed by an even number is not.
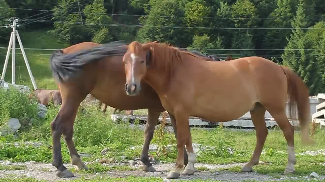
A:
[[[64,95],[64,94],[62,94]],[[64,95],[65,96],[65,95]],[[69,98],[69,100],[67,99]],[[73,177],[74,175],[67,170],[62,162],[60,138],[63,134],[66,144],[69,149],[71,163],[77,165],[78,168],[87,169],[85,164],[82,163],[80,156],[77,153],[74,143],[72,141],[73,123],[76,117],[78,107],[83,99],[75,97],[63,97],[62,107],[55,119],[51,122],[52,142],[53,142],[53,163],[59,171],[59,177]]]

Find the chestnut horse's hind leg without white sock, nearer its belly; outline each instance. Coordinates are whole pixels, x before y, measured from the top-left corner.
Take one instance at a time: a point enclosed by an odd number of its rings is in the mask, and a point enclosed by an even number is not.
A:
[[[260,103],[257,103],[254,110],[250,111],[256,131],[256,146],[251,160],[243,166],[243,172],[252,172],[253,166],[257,165],[260,160],[264,142],[268,133],[264,119],[265,111],[265,108]]]

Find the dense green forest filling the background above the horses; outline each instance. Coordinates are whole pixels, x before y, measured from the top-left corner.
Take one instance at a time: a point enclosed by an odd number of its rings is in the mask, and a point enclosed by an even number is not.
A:
[[[159,40],[219,57],[260,55],[290,66],[311,94],[325,92],[323,0],[0,0],[0,6],[0,26],[16,16],[27,23],[19,31],[50,27],[70,44]],[[302,29],[308,27],[321,29]],[[1,42],[10,31],[0,28]]]

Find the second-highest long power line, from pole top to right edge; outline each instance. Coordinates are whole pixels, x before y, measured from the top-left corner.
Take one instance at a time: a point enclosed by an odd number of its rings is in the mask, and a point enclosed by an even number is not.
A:
[[[33,21],[33,20],[31,20]],[[100,26],[120,26],[120,27],[152,27],[152,28],[189,28],[189,29],[255,29],[255,30],[281,30],[281,29],[298,29],[298,28],[244,28],[244,27],[185,27],[185,26],[157,26],[157,25],[133,25],[133,24],[106,24],[106,23],[86,23],[86,22],[68,22],[68,21],[54,21],[54,20],[38,20],[38,22],[46,23],[62,23],[62,24],[72,24],[72,25],[100,25]],[[33,22],[30,22],[33,23]],[[22,25],[27,25],[29,23],[24,23]],[[22,26],[21,25],[21,26]],[[325,28],[299,28],[299,29],[325,29]]]

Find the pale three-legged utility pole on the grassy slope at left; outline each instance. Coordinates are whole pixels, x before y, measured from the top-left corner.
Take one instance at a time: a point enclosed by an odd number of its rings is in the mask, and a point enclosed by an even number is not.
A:
[[[9,22],[12,21],[12,24],[9,24],[9,27],[12,28],[12,32],[11,32],[11,36],[10,36],[10,40],[9,40],[9,45],[8,45],[8,50],[7,50],[7,55],[6,55],[6,60],[5,60],[5,65],[3,66],[3,70],[2,70],[2,75],[1,75],[1,80],[5,79],[5,74],[6,74],[6,70],[7,70],[7,66],[8,66],[8,61],[9,61],[9,55],[10,55],[10,51],[11,51],[11,47],[12,47],[12,73],[11,73],[11,84],[15,85],[16,79],[15,79],[15,72],[16,72],[16,37],[19,43],[19,47],[22,53],[22,56],[24,57],[24,61],[29,73],[29,76],[31,77],[32,80],[32,84],[34,89],[36,90],[36,83],[32,74],[32,70],[31,67],[29,66],[28,60],[27,60],[27,56],[25,54],[25,50],[22,46],[20,37],[19,37],[19,33],[16,30],[16,27],[19,27],[19,24],[17,24],[17,22],[19,21],[18,18],[10,18],[8,20]],[[4,28],[8,28],[8,26],[4,26]]]

